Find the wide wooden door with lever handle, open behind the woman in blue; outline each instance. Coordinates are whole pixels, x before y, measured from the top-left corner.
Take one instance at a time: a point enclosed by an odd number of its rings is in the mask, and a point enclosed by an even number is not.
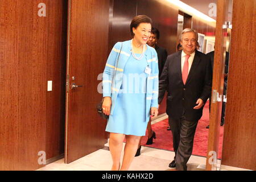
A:
[[[96,104],[108,58],[109,0],[69,1],[68,22],[65,163],[106,143],[106,121]]]

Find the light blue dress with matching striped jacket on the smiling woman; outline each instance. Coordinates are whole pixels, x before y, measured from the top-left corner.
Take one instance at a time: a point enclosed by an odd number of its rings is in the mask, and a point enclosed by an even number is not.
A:
[[[144,136],[146,134],[147,122],[150,119],[150,108],[158,107],[157,54],[154,48],[147,46],[145,55],[141,60],[137,60],[131,55],[131,52],[128,56],[129,51],[126,51],[125,46],[127,45],[128,49],[130,47],[126,43],[123,42],[117,68],[115,68],[115,64],[109,61],[112,56],[110,53],[104,70],[104,97],[112,97],[111,114],[109,115],[106,131],[125,135]],[[118,50],[115,47],[117,47],[117,44],[112,51]],[[121,55],[123,54],[126,54],[127,58],[122,67],[124,60]],[[117,59],[117,56],[118,52],[115,59]],[[137,54],[136,56],[139,57],[140,55]],[[147,67],[151,69],[150,74],[145,72]],[[113,69],[112,73],[110,73],[109,68]],[[116,73],[114,88],[112,88],[112,93],[108,95],[106,92],[109,91],[107,88],[110,86],[110,81],[107,79],[110,79],[111,76],[113,78],[114,69],[122,73]]]

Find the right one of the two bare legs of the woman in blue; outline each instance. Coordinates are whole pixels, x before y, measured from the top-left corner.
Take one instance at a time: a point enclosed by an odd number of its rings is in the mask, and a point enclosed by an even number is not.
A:
[[[129,169],[138,149],[140,138],[141,137],[135,135],[126,135],[125,154],[123,155],[121,171],[127,171]]]

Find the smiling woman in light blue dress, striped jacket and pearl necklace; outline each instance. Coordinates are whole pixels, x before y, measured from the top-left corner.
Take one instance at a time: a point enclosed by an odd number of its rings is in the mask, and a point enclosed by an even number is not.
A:
[[[112,170],[129,169],[150,115],[158,115],[158,56],[146,44],[151,24],[147,16],[135,16],[130,24],[133,39],[115,44],[104,69],[102,109],[109,115],[106,131],[110,133]]]

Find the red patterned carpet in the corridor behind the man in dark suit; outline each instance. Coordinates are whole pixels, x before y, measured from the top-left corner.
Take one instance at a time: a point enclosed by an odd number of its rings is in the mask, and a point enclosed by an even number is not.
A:
[[[203,117],[201,117],[197,125],[192,155],[207,156],[209,129],[206,129],[205,127],[208,125],[209,125],[209,101],[207,102],[207,104],[205,104],[205,107],[203,110]],[[163,121],[155,123],[154,125],[152,125],[152,129],[156,133],[156,139],[154,139],[154,143],[151,145],[146,145],[146,142],[147,142],[147,132],[146,132],[146,137],[143,137],[141,144],[147,147],[174,151],[174,148],[172,146],[171,131],[167,131],[167,127],[168,127],[168,119],[164,119]],[[218,159],[221,159],[223,133],[224,133],[224,126],[221,126]]]

